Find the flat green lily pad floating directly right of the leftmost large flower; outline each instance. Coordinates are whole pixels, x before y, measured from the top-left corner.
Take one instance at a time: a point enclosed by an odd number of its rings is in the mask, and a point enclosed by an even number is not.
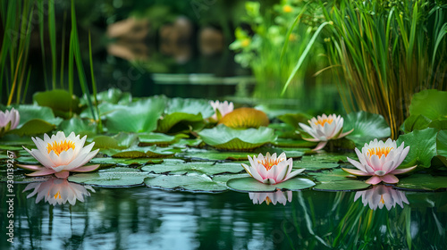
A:
[[[68,180],[97,187],[132,187],[143,184],[148,172],[130,168],[113,168],[93,173],[78,173],[68,177]]]

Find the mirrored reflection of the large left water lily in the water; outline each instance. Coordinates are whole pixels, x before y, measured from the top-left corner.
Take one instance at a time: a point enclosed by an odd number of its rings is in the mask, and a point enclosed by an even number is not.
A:
[[[52,205],[65,204],[67,201],[69,204],[76,204],[76,200],[84,202],[84,196],[90,196],[89,190],[95,192],[93,187],[88,185],[82,186],[77,183],[69,182],[67,179],[58,179],[55,177],[44,182],[30,183],[25,187],[23,192],[33,188],[34,190],[27,196],[27,198],[37,194],[36,203],[45,198],[45,201]]]

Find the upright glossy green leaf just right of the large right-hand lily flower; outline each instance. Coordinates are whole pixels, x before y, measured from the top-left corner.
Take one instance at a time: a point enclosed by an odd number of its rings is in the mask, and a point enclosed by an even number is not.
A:
[[[436,129],[427,128],[401,135],[397,139],[397,145],[405,142],[405,146],[409,146],[409,154],[401,166],[430,167],[432,158],[436,155],[436,132]]]

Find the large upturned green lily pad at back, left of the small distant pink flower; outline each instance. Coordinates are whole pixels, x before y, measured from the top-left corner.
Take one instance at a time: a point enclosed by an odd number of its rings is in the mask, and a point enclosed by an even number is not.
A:
[[[165,99],[154,96],[117,107],[106,117],[106,128],[110,132],[151,132],[163,113]]]

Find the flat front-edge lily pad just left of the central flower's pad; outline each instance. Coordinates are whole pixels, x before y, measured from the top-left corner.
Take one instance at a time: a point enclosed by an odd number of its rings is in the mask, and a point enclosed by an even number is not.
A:
[[[144,183],[148,187],[195,193],[223,192],[227,190],[225,185],[216,182],[205,174],[160,175],[156,177],[148,177],[144,180]]]

